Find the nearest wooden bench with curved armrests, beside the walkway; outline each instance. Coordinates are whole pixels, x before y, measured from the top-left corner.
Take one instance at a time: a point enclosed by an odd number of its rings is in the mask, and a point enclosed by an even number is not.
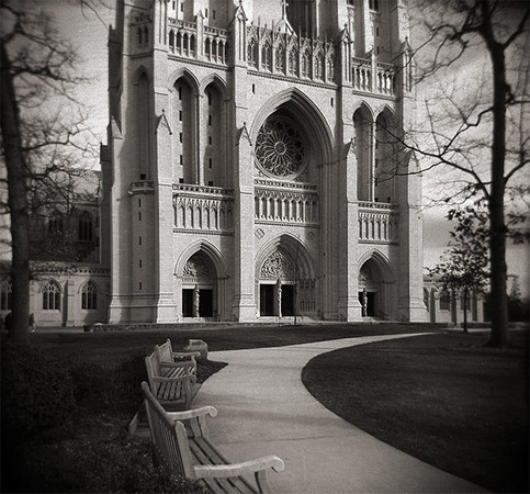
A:
[[[142,383],[155,458],[172,472],[189,479],[202,479],[214,493],[270,493],[267,470],[283,470],[275,456],[243,463],[229,463],[208,439],[206,415],[215,417],[213,406],[187,412],[166,412]],[[185,423],[185,425],[184,425]],[[256,484],[241,475],[255,475]]]

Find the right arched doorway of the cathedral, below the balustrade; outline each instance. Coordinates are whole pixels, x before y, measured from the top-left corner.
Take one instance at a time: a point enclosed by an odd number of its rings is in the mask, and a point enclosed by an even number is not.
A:
[[[359,302],[363,317],[390,319],[392,317],[390,279],[383,260],[369,258],[359,270]]]

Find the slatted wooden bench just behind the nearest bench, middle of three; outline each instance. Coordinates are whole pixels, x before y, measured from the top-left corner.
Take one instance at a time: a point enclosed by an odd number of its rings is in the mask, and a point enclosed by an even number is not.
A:
[[[189,372],[189,361],[160,361],[157,349],[145,358],[147,379],[151,393],[171,409],[187,409],[191,405],[192,384],[196,377]]]

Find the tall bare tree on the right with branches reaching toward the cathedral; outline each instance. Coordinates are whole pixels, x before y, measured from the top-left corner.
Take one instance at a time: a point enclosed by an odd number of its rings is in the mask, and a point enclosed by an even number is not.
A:
[[[530,160],[529,3],[500,0],[418,0],[417,30],[425,41],[414,54],[418,83],[425,91],[424,123],[388,139],[413,150],[426,172],[452,170],[444,178],[446,202],[483,198],[489,231],[492,312],[489,346],[508,344],[506,198],[517,193],[525,204],[528,187],[510,182]],[[435,88],[438,88],[436,90]],[[455,173],[456,172],[456,173]],[[441,172],[438,171],[438,176]],[[451,178],[449,178],[451,177]],[[512,202],[511,204],[516,204]],[[510,205],[511,205],[510,204]]]

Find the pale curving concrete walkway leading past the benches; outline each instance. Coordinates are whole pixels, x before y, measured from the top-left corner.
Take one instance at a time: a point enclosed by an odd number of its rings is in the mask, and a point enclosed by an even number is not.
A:
[[[200,389],[193,406],[214,405],[212,439],[234,462],[278,454],[275,493],[473,493],[486,490],[442,472],[363,433],[318,403],[301,372],[313,357],[388,335],[278,348],[213,351],[228,362]],[[382,397],[384,398],[384,396]]]

